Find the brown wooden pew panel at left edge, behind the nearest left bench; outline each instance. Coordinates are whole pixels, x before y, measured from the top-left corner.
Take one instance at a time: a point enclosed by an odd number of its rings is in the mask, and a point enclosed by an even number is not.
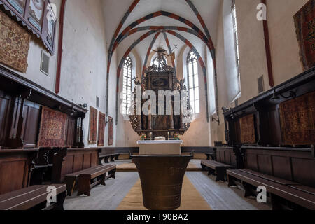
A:
[[[0,150],[0,195],[29,186],[38,149]]]

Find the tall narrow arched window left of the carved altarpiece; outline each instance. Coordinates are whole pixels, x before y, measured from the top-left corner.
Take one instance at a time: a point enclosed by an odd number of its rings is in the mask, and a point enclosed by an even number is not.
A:
[[[123,114],[129,114],[132,104],[132,60],[128,56],[123,69]]]

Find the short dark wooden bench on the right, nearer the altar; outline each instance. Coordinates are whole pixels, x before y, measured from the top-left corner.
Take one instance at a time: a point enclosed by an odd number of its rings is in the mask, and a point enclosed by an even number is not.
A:
[[[201,165],[203,170],[208,171],[208,175],[216,175],[216,181],[225,181],[227,169],[233,169],[233,167],[230,165],[226,165],[214,160],[202,160]]]

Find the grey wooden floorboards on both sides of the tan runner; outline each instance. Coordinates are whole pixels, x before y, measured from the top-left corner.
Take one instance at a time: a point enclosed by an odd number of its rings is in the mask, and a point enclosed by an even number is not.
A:
[[[113,163],[120,165],[128,162],[130,160]],[[200,160],[192,160],[192,162],[200,166]],[[258,204],[255,198],[244,199],[242,190],[228,188],[227,183],[217,183],[213,176],[207,176],[207,172],[186,172],[186,176],[204,197],[209,207],[214,210],[269,209],[266,204]],[[107,180],[106,186],[92,188],[90,197],[66,197],[64,208],[66,210],[116,210],[137,181],[139,181],[137,172],[116,172],[116,179]]]

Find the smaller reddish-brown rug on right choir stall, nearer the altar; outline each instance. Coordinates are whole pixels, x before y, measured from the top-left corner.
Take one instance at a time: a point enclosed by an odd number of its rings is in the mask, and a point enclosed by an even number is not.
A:
[[[239,119],[239,127],[241,129],[241,143],[254,144],[255,137],[255,117],[253,114]]]

